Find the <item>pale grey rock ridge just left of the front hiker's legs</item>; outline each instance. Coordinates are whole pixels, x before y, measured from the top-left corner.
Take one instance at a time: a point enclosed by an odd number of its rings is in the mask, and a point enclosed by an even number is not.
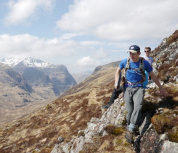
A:
[[[99,118],[92,118],[87,123],[87,128],[78,132],[78,137],[70,142],[56,144],[51,153],[78,153],[87,143],[93,143],[93,137],[96,135],[104,136],[107,134],[105,128],[108,125],[122,126],[125,122],[125,105],[123,99],[117,99],[115,103]]]

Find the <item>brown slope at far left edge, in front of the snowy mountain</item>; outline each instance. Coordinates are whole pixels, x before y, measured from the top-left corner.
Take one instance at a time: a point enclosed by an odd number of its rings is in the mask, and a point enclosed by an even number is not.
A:
[[[48,102],[34,92],[22,75],[4,64],[0,64],[0,99],[0,124],[26,115]]]

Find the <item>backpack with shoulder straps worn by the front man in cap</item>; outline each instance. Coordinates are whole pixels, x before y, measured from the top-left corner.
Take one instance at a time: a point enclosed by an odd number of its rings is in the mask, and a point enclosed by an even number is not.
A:
[[[143,62],[144,58],[140,57],[139,59],[140,59],[139,69],[142,74],[142,79],[139,83],[143,84],[143,88],[146,88],[146,85],[148,84],[148,72],[145,71],[144,62]],[[124,68],[124,72],[123,72],[124,74],[121,79],[121,85],[124,85],[126,83],[126,72],[128,69],[130,69],[130,58],[127,59],[126,67]]]

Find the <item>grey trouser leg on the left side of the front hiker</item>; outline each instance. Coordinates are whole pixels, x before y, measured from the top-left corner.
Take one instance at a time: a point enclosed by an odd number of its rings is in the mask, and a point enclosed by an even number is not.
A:
[[[127,124],[130,124],[130,118],[134,109],[133,101],[132,101],[132,92],[130,88],[127,88],[124,93],[124,101],[126,104],[126,110],[127,110]]]

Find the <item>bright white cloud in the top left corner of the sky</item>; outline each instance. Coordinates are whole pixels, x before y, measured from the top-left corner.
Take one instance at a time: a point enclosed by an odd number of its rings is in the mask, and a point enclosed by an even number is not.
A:
[[[19,24],[30,16],[38,9],[50,9],[54,0],[10,0],[8,3],[9,14],[5,18],[6,24]]]

